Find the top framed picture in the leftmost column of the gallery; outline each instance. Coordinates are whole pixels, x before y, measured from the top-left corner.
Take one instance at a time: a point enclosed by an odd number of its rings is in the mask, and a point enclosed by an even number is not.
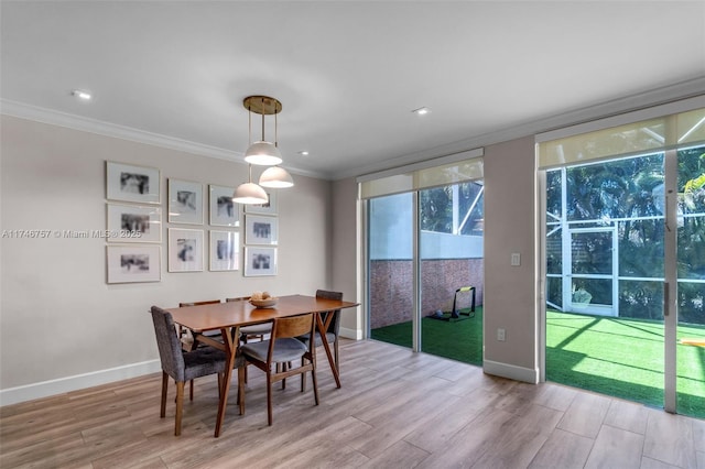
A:
[[[106,162],[106,198],[140,204],[159,204],[160,194],[159,170]]]

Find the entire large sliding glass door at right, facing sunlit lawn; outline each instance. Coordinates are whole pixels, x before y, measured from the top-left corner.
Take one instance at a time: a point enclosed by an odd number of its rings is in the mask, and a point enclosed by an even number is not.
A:
[[[547,380],[705,417],[704,140],[696,109],[540,143]]]

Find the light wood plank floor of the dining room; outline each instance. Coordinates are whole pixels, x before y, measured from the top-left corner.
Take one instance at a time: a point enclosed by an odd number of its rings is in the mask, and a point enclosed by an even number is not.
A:
[[[532,385],[377,341],[343,341],[343,389],[319,353],[321,405],[299,379],[274,392],[249,370],[219,438],[215,377],[196,381],[174,432],[161,373],[0,410],[0,467],[705,468],[705,421],[565,388]]]

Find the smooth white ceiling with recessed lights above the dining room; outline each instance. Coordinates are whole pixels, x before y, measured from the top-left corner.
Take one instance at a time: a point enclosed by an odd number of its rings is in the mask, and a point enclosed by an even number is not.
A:
[[[333,179],[705,92],[704,1],[0,8],[2,112],[241,161],[268,95],[283,166]]]

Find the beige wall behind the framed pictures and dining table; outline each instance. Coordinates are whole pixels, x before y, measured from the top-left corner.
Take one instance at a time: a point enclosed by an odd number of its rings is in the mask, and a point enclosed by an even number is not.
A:
[[[162,279],[106,283],[104,239],[0,240],[0,403],[158,370],[151,305],[330,288],[332,184],[294,176],[279,197],[279,274],[166,272],[166,179],[236,186],[247,166],[2,116],[0,230],[106,228],[106,161],[161,170]],[[282,189],[283,190],[283,189]],[[207,214],[207,211],[206,211]],[[206,217],[207,218],[207,217]],[[207,219],[206,219],[207,222]],[[181,226],[205,230],[208,225]],[[217,227],[216,229],[221,229]],[[347,295],[346,295],[347,296]],[[346,298],[347,299],[347,298]]]

